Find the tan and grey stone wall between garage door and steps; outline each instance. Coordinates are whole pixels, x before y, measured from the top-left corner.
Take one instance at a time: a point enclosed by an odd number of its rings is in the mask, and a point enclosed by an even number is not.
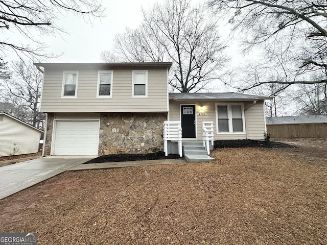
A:
[[[101,113],[99,155],[164,150],[167,113]]]

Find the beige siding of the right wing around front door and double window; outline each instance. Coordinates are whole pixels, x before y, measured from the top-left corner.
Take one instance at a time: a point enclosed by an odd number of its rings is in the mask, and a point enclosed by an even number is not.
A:
[[[220,102],[219,103],[232,103]],[[240,103],[240,102],[236,102]],[[241,102],[242,103],[242,102]],[[244,108],[251,105],[252,102],[244,102]],[[217,118],[216,118],[216,102],[215,101],[169,101],[169,120],[181,120],[180,106],[181,105],[196,105],[196,128],[197,139],[202,139],[202,122],[214,122],[214,138],[215,140],[222,139],[264,139],[265,131],[263,101],[258,101],[252,107],[245,110],[245,129],[246,134],[217,134]],[[203,106],[205,115],[199,115],[200,107]]]

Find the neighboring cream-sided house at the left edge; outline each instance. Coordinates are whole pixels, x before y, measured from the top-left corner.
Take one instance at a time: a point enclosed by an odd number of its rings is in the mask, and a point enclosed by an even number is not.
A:
[[[42,130],[0,112],[0,157],[36,153]]]

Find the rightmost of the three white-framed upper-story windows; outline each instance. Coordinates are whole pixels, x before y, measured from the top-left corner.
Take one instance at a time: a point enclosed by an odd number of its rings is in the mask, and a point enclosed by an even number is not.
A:
[[[132,97],[148,96],[148,71],[133,70]]]

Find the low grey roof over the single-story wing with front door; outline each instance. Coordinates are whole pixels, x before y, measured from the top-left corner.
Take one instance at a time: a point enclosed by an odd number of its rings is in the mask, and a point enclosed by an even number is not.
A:
[[[214,101],[258,101],[271,100],[272,97],[245,93],[169,93],[169,99],[182,100],[214,100]]]

